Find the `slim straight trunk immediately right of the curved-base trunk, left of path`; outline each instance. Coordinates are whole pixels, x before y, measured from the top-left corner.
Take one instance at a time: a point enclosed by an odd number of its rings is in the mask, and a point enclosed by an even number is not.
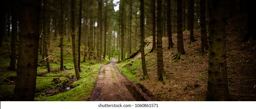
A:
[[[79,72],[81,72],[81,67],[80,67],[81,33],[82,33],[82,0],[80,0],[80,10],[79,10],[78,63],[77,63]]]

